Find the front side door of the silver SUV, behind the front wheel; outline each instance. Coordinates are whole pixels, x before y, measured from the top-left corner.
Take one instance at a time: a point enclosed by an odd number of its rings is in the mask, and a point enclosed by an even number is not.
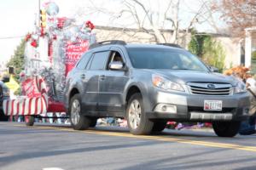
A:
[[[125,65],[124,54],[119,48],[111,48],[108,65],[115,59],[121,59]],[[127,71],[111,71],[108,69],[99,77],[99,111],[122,112],[125,101],[123,101],[125,84],[128,82]]]

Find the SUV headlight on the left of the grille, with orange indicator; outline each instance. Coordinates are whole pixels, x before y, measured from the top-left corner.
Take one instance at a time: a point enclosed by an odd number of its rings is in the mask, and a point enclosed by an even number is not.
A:
[[[164,90],[175,90],[180,92],[185,91],[180,84],[171,82],[170,80],[167,80],[166,78],[160,77],[158,75],[152,75],[152,83],[155,87],[162,88]]]

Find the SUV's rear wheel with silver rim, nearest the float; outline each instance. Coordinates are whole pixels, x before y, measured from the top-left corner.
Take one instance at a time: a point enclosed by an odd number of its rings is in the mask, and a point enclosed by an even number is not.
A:
[[[73,129],[85,130],[90,127],[90,118],[81,114],[80,94],[75,94],[70,100],[68,113]]]

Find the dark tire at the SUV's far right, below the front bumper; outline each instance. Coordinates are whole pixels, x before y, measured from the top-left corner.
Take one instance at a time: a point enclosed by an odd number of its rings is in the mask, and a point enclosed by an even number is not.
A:
[[[238,133],[240,124],[241,122],[212,122],[212,127],[219,137],[232,138]]]

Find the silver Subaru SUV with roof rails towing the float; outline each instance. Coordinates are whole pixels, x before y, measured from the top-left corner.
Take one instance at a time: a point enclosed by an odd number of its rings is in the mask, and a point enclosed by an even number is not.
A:
[[[99,117],[124,117],[133,134],[160,132],[167,121],[212,122],[233,137],[247,118],[242,82],[211,71],[183,48],[98,42],[67,76],[65,102],[74,129]]]

